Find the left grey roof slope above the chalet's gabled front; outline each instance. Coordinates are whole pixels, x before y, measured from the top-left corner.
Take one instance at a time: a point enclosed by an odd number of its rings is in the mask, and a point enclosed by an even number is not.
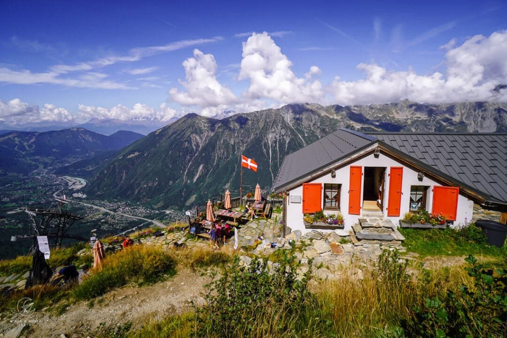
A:
[[[273,190],[345,158],[375,140],[375,137],[340,128],[285,157]]]

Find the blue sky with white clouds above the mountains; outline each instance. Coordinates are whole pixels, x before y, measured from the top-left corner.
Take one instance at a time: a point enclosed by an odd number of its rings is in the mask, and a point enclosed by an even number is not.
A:
[[[507,100],[492,91],[507,83],[500,1],[0,6],[0,122],[10,125]]]

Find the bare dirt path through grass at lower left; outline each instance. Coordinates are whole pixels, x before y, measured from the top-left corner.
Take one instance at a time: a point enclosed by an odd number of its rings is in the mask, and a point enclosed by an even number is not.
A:
[[[95,299],[92,308],[87,302],[80,302],[59,317],[39,311],[26,318],[30,324],[26,332],[35,337],[60,337],[61,334],[86,337],[101,323],[110,326],[131,321],[133,327],[140,327],[150,320],[185,312],[191,301],[202,304],[204,299],[200,292],[208,282],[209,278],[200,276],[199,272],[183,270],[165,282],[141,288],[124,287],[107,293],[103,302]]]

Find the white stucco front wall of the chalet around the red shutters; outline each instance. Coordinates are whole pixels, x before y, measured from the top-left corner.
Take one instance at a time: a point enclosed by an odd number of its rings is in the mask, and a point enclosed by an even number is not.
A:
[[[349,206],[349,178],[350,178],[350,166],[361,166],[363,167],[363,176],[361,177],[361,211],[360,215],[349,215],[348,214],[348,206]],[[385,169],[385,183],[384,183],[384,206],[383,213],[384,217],[389,218],[394,224],[399,224],[399,219],[405,216],[405,213],[410,209],[410,187],[412,185],[426,185],[429,186],[427,194],[426,194],[426,210],[429,212],[432,211],[432,198],[433,198],[433,186],[441,185],[436,181],[429,179],[428,177],[424,177],[422,181],[417,179],[417,171],[412,170],[409,167],[406,167],[399,162],[391,159],[388,156],[383,155],[382,153],[378,158],[375,158],[373,154],[359,159],[349,165],[336,169],[336,177],[331,177],[331,172],[328,172],[325,175],[322,175],[316,179],[311,181],[307,181],[305,183],[322,183],[322,195],[323,195],[323,183],[335,183],[341,184],[341,195],[340,195],[340,212],[343,215],[345,221],[345,229],[352,229],[352,225],[357,223],[357,219],[363,214],[363,194],[364,194],[364,172],[365,167],[384,167]],[[400,216],[399,217],[387,217],[387,204],[389,199],[389,183],[390,183],[390,167],[403,167],[403,178],[402,178],[402,200],[400,206]],[[303,186],[302,184],[295,187],[292,190],[289,190],[289,198],[287,198],[286,210],[287,210],[287,227],[290,227],[294,230],[301,230],[304,234],[305,232],[311,231],[311,229],[306,229],[303,223],[303,204],[302,203],[291,203],[291,196],[301,196],[303,197]],[[323,197],[322,197],[323,201]],[[472,220],[472,214],[474,209],[474,202],[472,200],[467,199],[461,194],[458,196],[458,208],[456,212],[456,221],[454,221],[453,227],[459,227],[464,222]],[[326,214],[336,213],[333,211],[324,210]],[[325,232],[325,230],[322,230]],[[328,230],[331,231],[331,230]]]

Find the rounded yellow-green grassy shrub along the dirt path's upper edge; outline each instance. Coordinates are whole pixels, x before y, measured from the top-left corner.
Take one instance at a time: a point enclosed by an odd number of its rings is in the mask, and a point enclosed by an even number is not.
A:
[[[104,259],[102,270],[92,271],[74,289],[78,299],[92,299],[129,282],[154,283],[175,273],[175,262],[161,248],[133,246]]]

